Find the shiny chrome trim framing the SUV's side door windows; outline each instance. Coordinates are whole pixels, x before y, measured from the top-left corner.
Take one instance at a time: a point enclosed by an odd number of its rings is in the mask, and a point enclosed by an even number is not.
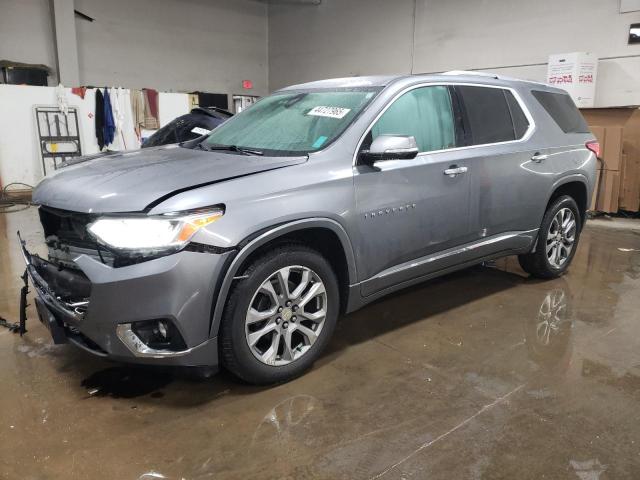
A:
[[[527,107],[526,103],[524,102],[524,100],[522,100],[522,97],[520,96],[518,91],[515,90],[514,88],[505,87],[502,85],[486,85],[482,83],[469,83],[469,82],[423,82],[423,83],[418,83],[416,85],[411,85],[401,90],[384,106],[384,108],[380,112],[378,112],[376,117],[373,119],[373,121],[371,121],[371,123],[369,123],[369,126],[365,129],[364,133],[360,136],[360,140],[358,140],[358,146],[353,154],[353,160],[351,164],[352,167],[355,167],[358,165],[358,152],[360,152],[360,148],[362,147],[362,142],[364,142],[365,137],[369,134],[369,132],[371,131],[373,126],[376,124],[376,122],[380,119],[380,117],[384,115],[387,109],[391,107],[391,105],[393,105],[395,101],[398,100],[398,98],[400,98],[405,93],[415,90],[416,88],[438,87],[438,86],[455,87],[456,85],[463,86],[463,87],[499,88],[499,89],[507,90],[511,92],[513,97],[516,99],[516,102],[522,109],[524,116],[527,118],[527,121],[529,122],[529,128],[527,128],[527,130],[524,132],[524,135],[522,135],[522,137],[516,140],[507,140],[505,142],[494,142],[494,143],[481,143],[478,145],[465,145],[463,147],[443,148],[440,150],[429,150],[425,152],[418,152],[418,155],[416,156],[416,158],[424,155],[431,155],[433,153],[456,152],[456,151],[468,150],[472,148],[493,147],[497,145],[509,145],[512,143],[513,144],[523,143],[531,138],[531,136],[533,135],[533,132],[536,130],[535,120],[533,119],[533,115],[531,115],[531,112],[529,111],[529,108]]]

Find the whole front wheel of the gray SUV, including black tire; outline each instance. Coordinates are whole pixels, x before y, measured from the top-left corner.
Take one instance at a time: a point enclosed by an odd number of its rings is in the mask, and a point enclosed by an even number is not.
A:
[[[340,305],[329,262],[301,245],[256,258],[237,280],[220,329],[222,364],[253,384],[291,380],[320,356]]]

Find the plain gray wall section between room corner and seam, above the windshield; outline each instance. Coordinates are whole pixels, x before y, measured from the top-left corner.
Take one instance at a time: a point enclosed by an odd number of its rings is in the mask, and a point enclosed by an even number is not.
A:
[[[269,88],[409,71],[413,0],[269,5]]]

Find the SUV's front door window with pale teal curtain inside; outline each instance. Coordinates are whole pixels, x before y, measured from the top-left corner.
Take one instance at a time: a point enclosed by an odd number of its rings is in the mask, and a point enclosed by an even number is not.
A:
[[[379,135],[413,135],[421,152],[455,147],[449,89],[434,86],[405,93],[371,128],[371,140]]]

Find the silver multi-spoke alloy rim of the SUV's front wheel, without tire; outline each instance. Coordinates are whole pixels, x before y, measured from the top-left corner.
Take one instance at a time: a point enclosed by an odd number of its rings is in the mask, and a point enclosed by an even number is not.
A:
[[[301,265],[281,268],[262,282],[249,303],[249,349],[262,363],[287,365],[313,346],[326,315],[327,292],[318,274]]]

